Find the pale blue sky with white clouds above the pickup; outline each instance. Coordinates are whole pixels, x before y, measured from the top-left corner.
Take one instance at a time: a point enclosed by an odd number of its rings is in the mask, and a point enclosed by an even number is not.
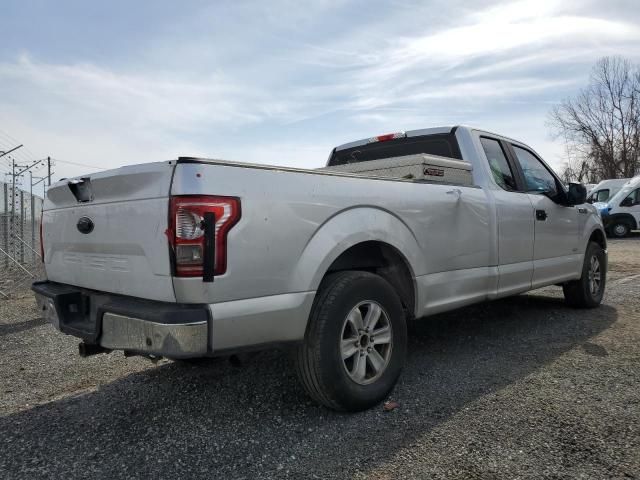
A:
[[[0,150],[60,159],[56,179],[180,155],[318,167],[450,124],[558,167],[551,106],[599,57],[640,61],[637,0],[4,0],[2,17]]]

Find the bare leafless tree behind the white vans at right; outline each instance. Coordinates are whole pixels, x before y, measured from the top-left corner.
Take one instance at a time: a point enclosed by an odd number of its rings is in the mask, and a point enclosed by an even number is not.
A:
[[[640,69],[620,57],[600,59],[589,85],[553,108],[550,124],[567,145],[565,180],[640,174]]]

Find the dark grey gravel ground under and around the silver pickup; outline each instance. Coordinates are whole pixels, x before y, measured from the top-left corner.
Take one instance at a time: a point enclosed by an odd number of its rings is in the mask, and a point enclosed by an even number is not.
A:
[[[411,326],[400,406],[337,414],[286,352],[88,359],[0,301],[0,478],[640,478],[640,237],[595,310],[558,288]]]

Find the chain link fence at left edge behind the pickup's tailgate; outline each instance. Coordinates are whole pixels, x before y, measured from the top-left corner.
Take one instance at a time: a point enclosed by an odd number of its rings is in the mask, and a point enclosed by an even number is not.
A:
[[[0,182],[0,300],[29,293],[44,278],[40,259],[42,198]]]

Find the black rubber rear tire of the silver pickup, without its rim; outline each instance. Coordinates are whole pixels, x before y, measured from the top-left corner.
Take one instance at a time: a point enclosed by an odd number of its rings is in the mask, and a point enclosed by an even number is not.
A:
[[[373,357],[373,353],[359,351],[343,360],[341,350],[347,316],[356,308],[366,309],[368,305],[381,308],[380,318],[391,330],[389,350],[383,353],[386,355],[386,367],[380,368],[375,375],[371,373],[375,368],[369,360],[369,355]],[[358,349],[362,348],[363,342],[356,341]],[[368,342],[367,336],[364,344]],[[370,347],[387,348],[374,343]],[[314,400],[334,410],[359,411],[386,398],[400,376],[406,352],[407,325],[400,299],[393,287],[378,275],[345,271],[331,274],[322,281],[309,316],[305,340],[296,350],[295,364],[298,377]],[[356,358],[358,356],[364,356],[364,360]],[[362,381],[369,383],[357,383],[350,376],[353,373],[348,372],[347,364],[351,360],[365,362],[365,375],[372,377]],[[352,365],[352,369],[357,370],[355,363]]]

